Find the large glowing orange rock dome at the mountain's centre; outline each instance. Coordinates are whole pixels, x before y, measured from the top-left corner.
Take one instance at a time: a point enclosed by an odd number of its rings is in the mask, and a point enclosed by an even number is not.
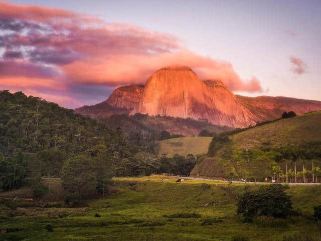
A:
[[[207,119],[215,125],[246,127],[256,118],[221,81],[202,81],[185,66],[163,68],[147,80],[131,113]]]

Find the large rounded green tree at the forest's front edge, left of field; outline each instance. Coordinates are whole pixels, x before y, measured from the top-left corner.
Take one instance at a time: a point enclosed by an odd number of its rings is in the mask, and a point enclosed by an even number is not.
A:
[[[97,178],[92,166],[92,160],[84,155],[68,159],[61,171],[63,188],[81,202],[83,197],[95,193]]]

